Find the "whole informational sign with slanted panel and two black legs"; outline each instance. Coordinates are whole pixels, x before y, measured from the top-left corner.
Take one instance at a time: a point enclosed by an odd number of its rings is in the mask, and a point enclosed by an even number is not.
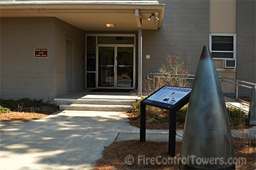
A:
[[[146,142],[146,105],[168,109],[170,111],[168,152],[170,155],[175,156],[176,112],[189,102],[191,90],[191,88],[165,85],[143,101],[140,101],[140,142]]]

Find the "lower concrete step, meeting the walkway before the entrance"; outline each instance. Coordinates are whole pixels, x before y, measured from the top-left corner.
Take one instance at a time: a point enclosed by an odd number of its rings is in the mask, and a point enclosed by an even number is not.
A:
[[[105,105],[105,104],[60,104],[59,109],[124,112],[129,109],[132,109],[132,106],[130,106],[130,105]]]

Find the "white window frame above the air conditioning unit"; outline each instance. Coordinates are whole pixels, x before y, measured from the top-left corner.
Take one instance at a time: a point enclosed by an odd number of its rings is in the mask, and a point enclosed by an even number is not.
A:
[[[212,50],[212,36],[233,36],[233,51],[220,51],[220,50]],[[235,59],[236,60],[236,34],[219,34],[219,33],[210,33],[209,35],[209,48],[210,52],[214,53],[233,53],[233,58],[213,58],[219,60],[226,60],[226,59]]]

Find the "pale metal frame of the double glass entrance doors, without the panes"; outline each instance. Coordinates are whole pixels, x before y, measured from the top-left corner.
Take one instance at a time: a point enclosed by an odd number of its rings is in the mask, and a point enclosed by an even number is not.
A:
[[[124,88],[117,87],[117,71],[114,71],[114,86],[113,87],[99,87],[99,47],[115,47],[115,56],[114,56],[114,68],[117,69],[117,48],[118,47],[133,47],[133,87]],[[114,70],[115,70],[114,69]],[[98,44],[96,49],[96,88],[105,88],[105,89],[135,89],[135,45],[110,45],[110,44]]]

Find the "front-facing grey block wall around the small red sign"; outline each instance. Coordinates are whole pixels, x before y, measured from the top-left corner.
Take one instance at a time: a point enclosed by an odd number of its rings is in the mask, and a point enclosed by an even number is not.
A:
[[[53,18],[1,18],[1,98],[53,98]],[[35,58],[48,48],[48,58]]]

